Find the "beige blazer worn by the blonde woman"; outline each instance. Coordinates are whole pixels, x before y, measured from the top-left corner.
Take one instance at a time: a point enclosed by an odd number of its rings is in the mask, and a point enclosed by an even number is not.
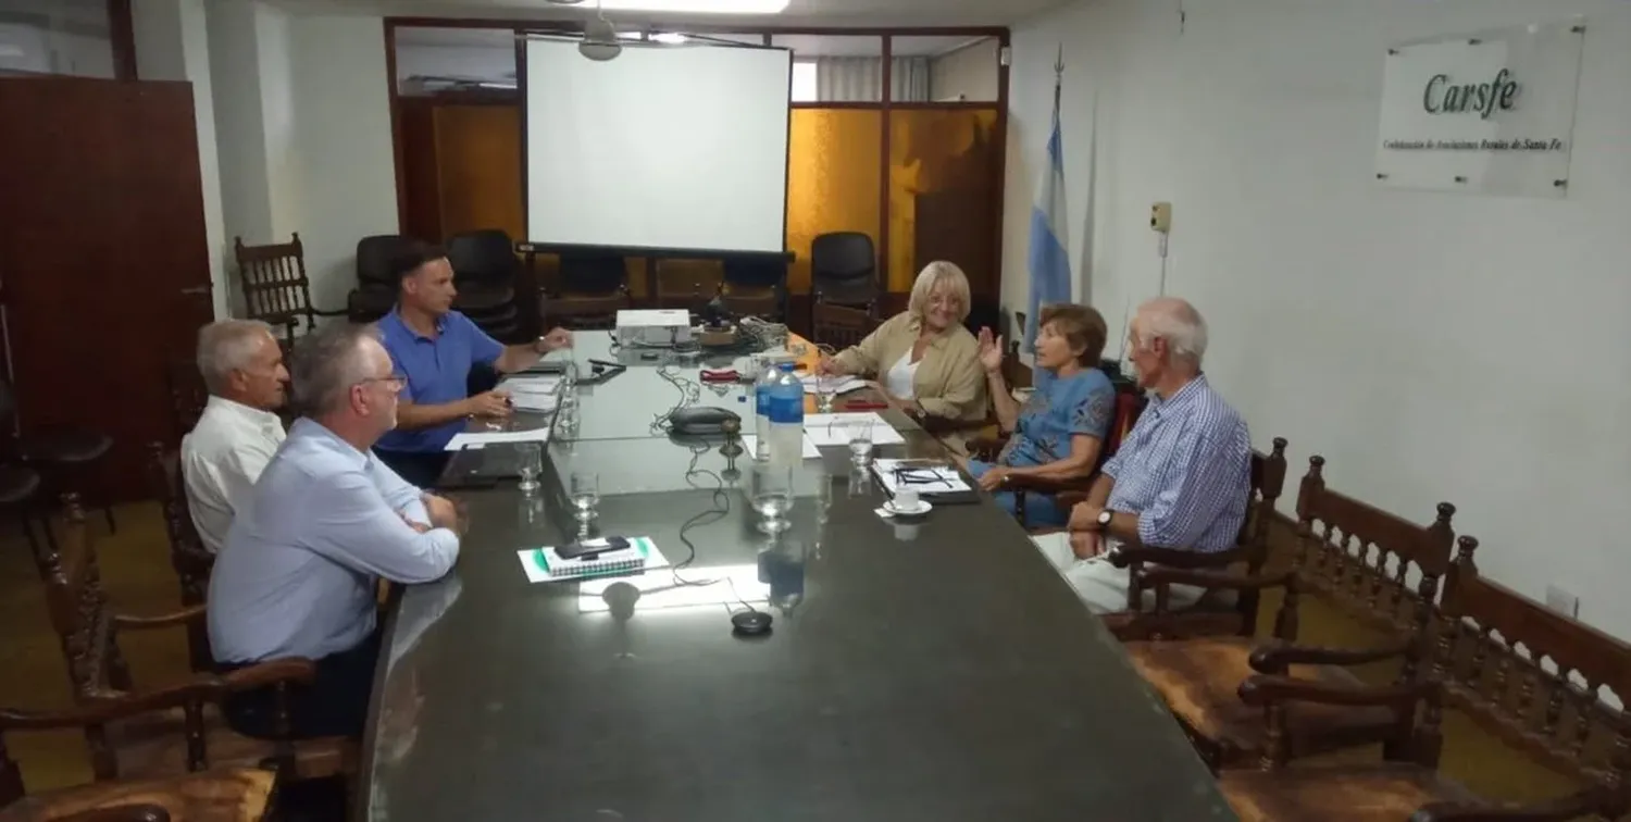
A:
[[[912,351],[922,328],[922,320],[910,312],[897,313],[860,346],[843,349],[833,359],[850,373],[882,378],[891,365]],[[912,377],[912,393],[930,416],[985,419],[988,404],[980,344],[967,328],[949,328],[928,344]]]

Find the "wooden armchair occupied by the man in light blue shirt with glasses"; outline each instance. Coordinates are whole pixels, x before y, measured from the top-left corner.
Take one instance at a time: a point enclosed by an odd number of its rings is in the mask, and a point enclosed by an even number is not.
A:
[[[67,510],[59,550],[44,559],[46,602],[51,623],[62,641],[75,698],[82,703],[147,700],[168,693],[207,693],[277,685],[308,685],[316,667],[308,659],[279,659],[240,669],[227,677],[194,674],[163,690],[135,690],[124,654],[121,631],[188,628],[204,621],[204,605],[191,605],[161,616],[114,613],[101,587],[96,550],[85,527],[85,512],[73,494],[64,496]],[[145,703],[144,703],[145,705]],[[192,709],[189,709],[192,711]],[[227,727],[215,705],[184,711],[148,713],[113,724],[91,736],[91,755],[106,773],[132,778],[161,778],[181,773],[201,760],[202,745],[217,752],[225,767],[276,763],[289,778],[320,778],[347,773],[354,762],[349,740],[313,739],[302,742],[250,739]],[[284,708],[282,723],[287,723]],[[202,724],[199,724],[202,723]]]

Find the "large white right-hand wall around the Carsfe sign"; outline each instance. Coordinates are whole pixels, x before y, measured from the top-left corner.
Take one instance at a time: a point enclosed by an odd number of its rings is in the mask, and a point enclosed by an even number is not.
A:
[[[1112,338],[1153,295],[1148,206],[1173,201],[1168,292],[1212,325],[1207,369],[1258,445],[1417,520],[1440,499],[1479,566],[1580,595],[1631,636],[1631,7],[1620,0],[1091,0],[1014,31],[1005,302],[1065,44],[1078,271]],[[1372,181],[1390,42],[1587,15],[1566,201]],[[1094,214],[1086,219],[1088,168]],[[1091,222],[1091,235],[1086,223]],[[1086,285],[1086,282],[1083,284]],[[1295,489],[1295,483],[1292,484]],[[1292,501],[1282,504],[1288,510]]]

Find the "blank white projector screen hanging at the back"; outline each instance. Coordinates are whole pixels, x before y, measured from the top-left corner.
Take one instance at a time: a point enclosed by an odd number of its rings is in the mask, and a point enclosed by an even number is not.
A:
[[[527,41],[527,240],[786,248],[793,52]]]

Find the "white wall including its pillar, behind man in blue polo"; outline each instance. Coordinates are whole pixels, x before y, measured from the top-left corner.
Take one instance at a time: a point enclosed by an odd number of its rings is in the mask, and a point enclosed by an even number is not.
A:
[[[396,166],[378,16],[289,15],[256,0],[209,5],[225,269],[232,240],[300,233],[312,302],[338,310],[357,240],[396,233]]]

